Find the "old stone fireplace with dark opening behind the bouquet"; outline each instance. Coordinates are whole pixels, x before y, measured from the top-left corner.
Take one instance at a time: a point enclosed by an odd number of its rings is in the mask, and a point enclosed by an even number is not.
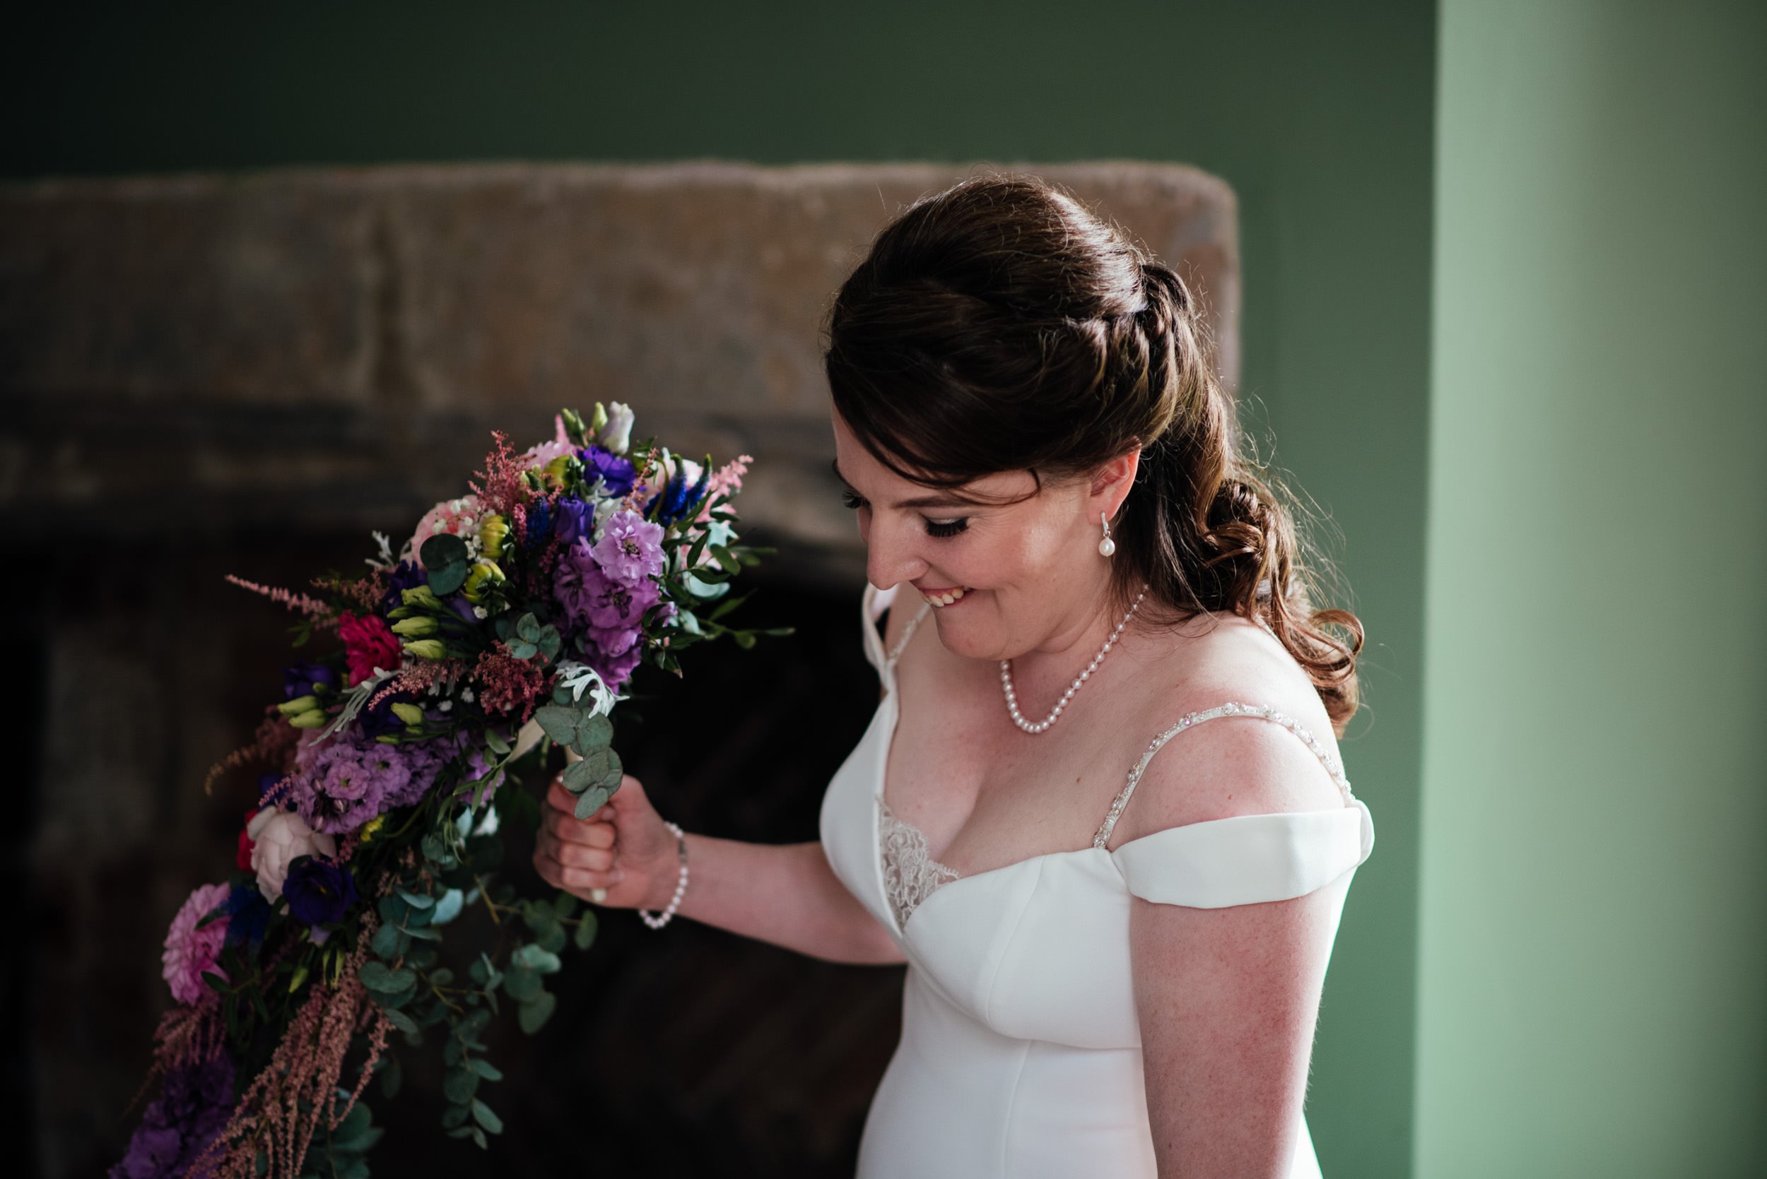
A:
[[[1228,189],[1177,166],[1035,171],[1180,267],[1232,383]],[[756,457],[740,507],[753,538],[781,545],[769,575],[799,586],[804,625],[783,641],[799,655],[779,648],[765,676],[793,687],[732,717],[705,750],[629,752],[696,830],[813,833],[818,782],[875,702],[857,642],[845,648],[862,554],[829,473],[818,332],[878,226],[958,175],[493,166],[0,187],[0,524],[12,556],[0,641],[28,687],[7,729],[18,794],[4,868],[27,916],[0,980],[0,1100],[35,1110],[21,1174],[95,1174],[117,1158],[168,1003],[164,925],[191,886],[231,867],[251,784],[223,780],[205,798],[200,782],[277,690],[286,620],[223,574],[299,584],[355,565],[369,528],[403,533],[459,494],[491,429],[532,439],[562,404],[620,399],[689,452]],[[839,602],[820,612],[804,590]],[[850,658],[829,662],[829,646]],[[753,674],[710,657],[701,667],[689,688],[732,676],[726,699]],[[802,747],[792,734],[806,729],[829,748],[781,773],[777,750]],[[578,978],[615,1006],[560,1017],[599,1029],[601,1055],[511,1052],[578,1070],[557,1073],[571,1085],[595,1084],[595,1059],[633,1070],[656,1096],[610,1115],[634,1130],[652,1117],[650,1140],[673,1142],[693,1174],[850,1174],[843,1153],[887,1057],[894,978],[710,932],[627,944],[608,927],[615,944]],[[701,1024],[749,1033],[634,1034],[670,1020],[659,995],[673,992],[643,981],[668,978],[705,980],[680,997]],[[652,1061],[647,1078],[657,1043],[666,1068]],[[553,1093],[542,1080],[532,1094]],[[417,1089],[415,1105],[385,1112],[396,1131],[433,1115]],[[550,1100],[518,1105],[569,1117]],[[546,1174],[546,1133],[557,1128],[528,1126],[530,1158],[504,1154],[504,1174]],[[413,1124],[405,1149],[417,1142]],[[482,1161],[454,1160],[461,1174]],[[622,1170],[652,1174],[643,1160]],[[433,1174],[452,1172],[436,1161]]]

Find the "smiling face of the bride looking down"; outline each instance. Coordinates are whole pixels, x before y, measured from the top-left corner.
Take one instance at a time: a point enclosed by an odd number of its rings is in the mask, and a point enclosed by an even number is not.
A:
[[[931,602],[940,642],[970,658],[1060,650],[1090,627],[1110,582],[1099,514],[1115,515],[1136,459],[1043,491],[1030,471],[944,491],[891,471],[834,415],[834,466],[859,517],[866,577],[878,590],[910,582]]]

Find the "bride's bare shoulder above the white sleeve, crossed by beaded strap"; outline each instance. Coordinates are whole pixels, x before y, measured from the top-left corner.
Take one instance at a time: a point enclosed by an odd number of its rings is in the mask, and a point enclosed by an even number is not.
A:
[[[1338,757],[1331,717],[1311,680],[1262,627],[1196,620],[1173,641],[1179,672],[1157,692],[1161,720],[1143,722],[1133,757],[1189,713],[1255,704],[1293,717]],[[1154,755],[1113,833],[1117,847],[1173,826],[1343,807],[1343,794],[1304,740],[1258,717],[1221,717],[1175,734]]]

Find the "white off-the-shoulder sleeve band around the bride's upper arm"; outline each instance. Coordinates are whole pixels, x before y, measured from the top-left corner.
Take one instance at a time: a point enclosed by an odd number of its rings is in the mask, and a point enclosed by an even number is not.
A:
[[[1129,840],[1111,852],[1143,900],[1226,909],[1304,897],[1355,868],[1375,849],[1361,800],[1339,810],[1235,815]]]

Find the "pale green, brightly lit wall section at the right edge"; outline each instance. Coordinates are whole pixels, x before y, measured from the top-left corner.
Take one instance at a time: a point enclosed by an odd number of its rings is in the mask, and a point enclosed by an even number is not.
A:
[[[1767,5],[1445,0],[1417,1174],[1767,1174]]]

